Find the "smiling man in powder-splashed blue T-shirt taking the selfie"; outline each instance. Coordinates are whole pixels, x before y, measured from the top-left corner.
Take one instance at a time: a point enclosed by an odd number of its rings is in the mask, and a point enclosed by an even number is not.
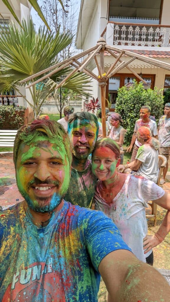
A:
[[[169,301],[168,283],[136,259],[112,220],[64,201],[71,153],[60,124],[21,127],[14,163],[25,200],[0,215],[1,302],[97,302],[100,275],[108,302]]]

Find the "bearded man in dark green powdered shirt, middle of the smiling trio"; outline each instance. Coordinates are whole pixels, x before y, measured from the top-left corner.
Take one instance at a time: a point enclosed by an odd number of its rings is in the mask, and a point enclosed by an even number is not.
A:
[[[92,153],[99,132],[97,117],[89,112],[77,112],[68,120],[73,160],[70,186],[66,200],[80,207],[90,207],[96,188],[96,176],[92,173],[88,159]]]

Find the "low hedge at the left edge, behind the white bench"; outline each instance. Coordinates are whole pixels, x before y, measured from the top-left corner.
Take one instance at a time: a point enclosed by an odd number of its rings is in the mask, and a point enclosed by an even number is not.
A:
[[[18,130],[24,125],[25,107],[0,106],[0,129]]]

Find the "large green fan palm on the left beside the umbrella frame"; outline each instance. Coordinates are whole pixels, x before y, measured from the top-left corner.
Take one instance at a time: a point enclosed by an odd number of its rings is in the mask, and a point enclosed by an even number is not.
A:
[[[0,31],[0,92],[10,88],[16,89],[20,94],[19,82],[28,76],[34,75],[59,62],[58,54],[72,41],[70,33],[53,34],[47,29],[39,28],[36,33],[32,20],[22,21],[22,27],[18,28],[14,23],[8,25],[5,31]],[[28,88],[32,96],[33,104],[25,96],[25,100],[34,111],[36,118],[41,113],[47,96],[55,91],[56,82],[60,77],[68,75],[70,68],[64,68],[55,73],[45,82],[41,82],[41,89],[36,90],[36,85]],[[37,78],[38,79],[38,78]],[[26,83],[32,83],[33,80]],[[77,92],[79,95],[87,95],[86,84],[89,83],[87,75],[76,73],[63,87]]]

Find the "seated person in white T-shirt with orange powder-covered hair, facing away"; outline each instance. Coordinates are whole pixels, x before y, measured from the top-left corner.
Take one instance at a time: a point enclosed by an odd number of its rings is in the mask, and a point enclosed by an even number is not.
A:
[[[152,182],[157,182],[158,168],[158,149],[159,141],[151,137],[151,132],[147,127],[139,127],[136,132],[136,138],[141,146],[136,154],[136,159],[126,165],[119,165],[119,172],[131,173],[136,171],[136,175],[142,175]]]

